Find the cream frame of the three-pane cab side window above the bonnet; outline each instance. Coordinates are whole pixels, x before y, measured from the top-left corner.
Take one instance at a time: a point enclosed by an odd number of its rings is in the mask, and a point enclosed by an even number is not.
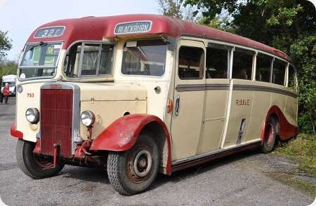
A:
[[[74,41],[65,51],[65,57],[63,58],[62,65],[65,64],[65,60],[67,58],[67,53],[70,51],[72,46],[74,46],[77,43],[81,43],[81,50],[80,50],[80,56],[79,56],[79,71],[78,71],[78,76],[77,77],[70,77],[65,74],[64,69],[62,69],[62,74],[69,79],[75,80],[75,79],[88,79],[88,78],[104,78],[104,77],[112,77],[113,76],[113,66],[114,66],[114,60],[116,56],[116,48],[117,48],[117,42],[116,41]],[[82,60],[84,58],[84,45],[86,44],[93,44],[93,45],[98,45],[99,50],[98,50],[98,66],[96,69],[96,74],[93,75],[81,75],[81,67],[82,67]],[[113,46],[113,53],[112,53],[112,63],[111,63],[111,71],[110,74],[98,74],[99,67],[100,67],[100,55],[102,53],[102,46],[103,45],[112,45]]]

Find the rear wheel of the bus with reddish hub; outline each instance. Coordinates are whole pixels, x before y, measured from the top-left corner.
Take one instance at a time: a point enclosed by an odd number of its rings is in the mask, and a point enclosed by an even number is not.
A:
[[[261,145],[261,151],[263,153],[269,153],[275,146],[275,139],[277,137],[277,121],[273,117],[269,117],[265,125],[265,136],[263,144]]]

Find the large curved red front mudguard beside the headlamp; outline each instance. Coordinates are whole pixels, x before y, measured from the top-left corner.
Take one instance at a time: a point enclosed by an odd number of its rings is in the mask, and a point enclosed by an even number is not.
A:
[[[148,114],[131,114],[122,116],[109,125],[103,132],[93,139],[90,150],[127,151],[136,143],[140,132],[148,123],[158,123],[164,131],[168,146],[166,158],[166,174],[171,174],[171,141],[168,129],[157,116]]]

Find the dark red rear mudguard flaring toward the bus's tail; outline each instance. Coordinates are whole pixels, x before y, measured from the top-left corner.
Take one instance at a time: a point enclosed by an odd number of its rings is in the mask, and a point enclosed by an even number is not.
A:
[[[291,123],[287,121],[287,118],[284,116],[281,109],[274,105],[270,107],[268,114],[265,116],[265,123],[263,124],[263,128],[261,130],[262,140],[265,137],[265,124],[272,114],[275,114],[277,116],[277,121],[279,122],[279,139],[286,140],[298,134],[298,127],[295,125],[291,125]]]

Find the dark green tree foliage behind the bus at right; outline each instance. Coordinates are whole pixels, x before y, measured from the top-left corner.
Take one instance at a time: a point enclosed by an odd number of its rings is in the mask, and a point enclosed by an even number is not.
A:
[[[183,0],[197,6],[204,24],[227,13],[224,29],[278,48],[293,57],[298,69],[299,116],[303,132],[316,125],[316,10],[305,0]],[[222,26],[223,27],[223,26]],[[220,28],[223,29],[223,28]]]

